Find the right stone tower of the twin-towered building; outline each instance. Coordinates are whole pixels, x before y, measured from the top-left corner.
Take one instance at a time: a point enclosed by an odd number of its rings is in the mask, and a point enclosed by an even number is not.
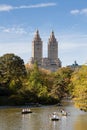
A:
[[[54,61],[58,58],[58,42],[52,31],[48,41],[48,59]]]

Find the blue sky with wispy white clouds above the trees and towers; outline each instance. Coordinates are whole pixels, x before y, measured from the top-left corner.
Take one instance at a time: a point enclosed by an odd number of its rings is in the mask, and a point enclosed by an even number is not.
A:
[[[43,57],[54,31],[62,66],[87,63],[87,0],[0,0],[0,56],[14,53],[29,62],[37,29]]]

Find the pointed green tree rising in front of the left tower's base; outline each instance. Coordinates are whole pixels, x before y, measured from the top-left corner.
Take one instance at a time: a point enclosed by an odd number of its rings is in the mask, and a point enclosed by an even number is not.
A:
[[[34,63],[34,68],[30,72],[27,89],[34,94],[33,97],[37,102],[47,97],[47,87],[43,84],[37,62]]]

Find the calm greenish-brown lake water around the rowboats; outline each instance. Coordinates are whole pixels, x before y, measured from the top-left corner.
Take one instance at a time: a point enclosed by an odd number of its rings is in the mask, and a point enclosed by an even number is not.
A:
[[[51,121],[49,115],[65,109],[69,116]],[[64,106],[31,108],[33,113],[22,115],[22,108],[0,108],[0,130],[87,130],[87,113],[74,108],[71,102]]]

